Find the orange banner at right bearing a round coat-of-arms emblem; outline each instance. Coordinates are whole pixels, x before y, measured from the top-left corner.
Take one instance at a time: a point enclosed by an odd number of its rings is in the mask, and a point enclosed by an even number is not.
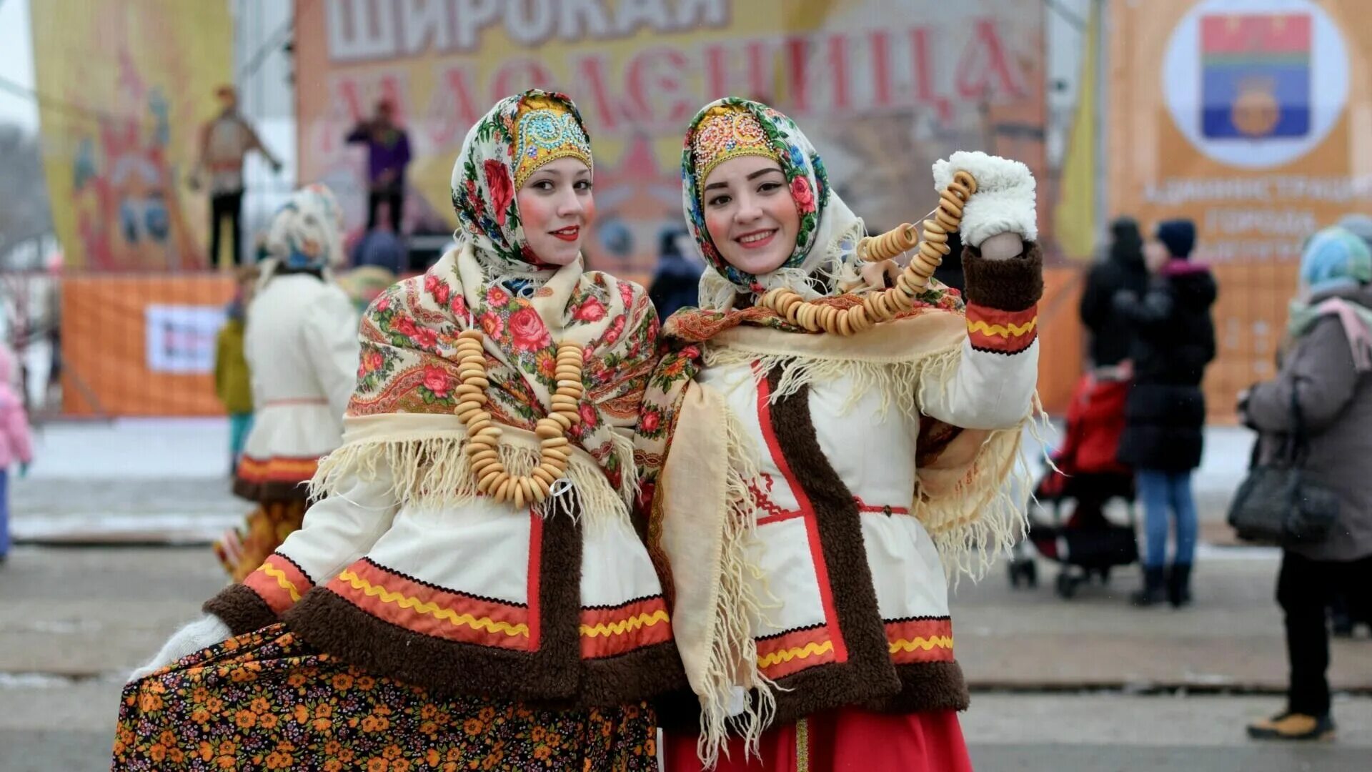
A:
[[[1110,210],[1144,228],[1196,223],[1196,260],[1213,262],[1220,282],[1213,418],[1273,375],[1302,242],[1346,213],[1372,212],[1365,5],[1110,5]]]

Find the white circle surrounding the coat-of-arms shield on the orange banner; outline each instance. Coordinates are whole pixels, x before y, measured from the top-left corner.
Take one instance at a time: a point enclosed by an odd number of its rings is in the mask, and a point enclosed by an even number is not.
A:
[[[1310,130],[1303,137],[1209,139],[1200,130],[1200,16],[1209,14],[1310,15]],[[1168,41],[1162,93],[1177,129],[1205,155],[1246,169],[1295,161],[1329,133],[1349,98],[1349,56],[1338,25],[1309,0],[1203,0]]]

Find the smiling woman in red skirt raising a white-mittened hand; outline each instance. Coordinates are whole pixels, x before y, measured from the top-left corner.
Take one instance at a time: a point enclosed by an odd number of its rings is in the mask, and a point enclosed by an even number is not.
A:
[[[1033,177],[980,152],[938,162],[940,188],[958,170],[978,183],[966,305],[930,282],[844,335],[763,302],[789,288],[849,309],[884,288],[864,276],[885,283],[800,129],[724,99],[691,122],[682,166],[711,268],[702,308],[664,327],[674,353],[637,445],[694,692],[663,702],[667,769],[970,769],[945,574],[1022,529],[1004,485],[1036,383]]]

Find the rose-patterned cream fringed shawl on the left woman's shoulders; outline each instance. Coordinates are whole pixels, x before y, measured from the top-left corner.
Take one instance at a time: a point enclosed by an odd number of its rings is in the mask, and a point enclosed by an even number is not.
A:
[[[539,462],[535,422],[547,415],[556,346],[579,343],[586,393],[569,431],[571,489],[536,510],[567,507],[593,521],[627,519],[638,490],[630,431],[652,371],[657,319],[637,284],[565,265],[530,297],[490,282],[471,242],[425,275],[390,287],[362,319],[358,383],[343,419],[343,445],[320,460],[314,496],[342,495],[353,477],[384,468],[399,506],[456,508],[476,499],[457,404],[457,335],[486,332],[487,409],[504,434],[512,474]],[[576,504],[576,507],[571,507]]]

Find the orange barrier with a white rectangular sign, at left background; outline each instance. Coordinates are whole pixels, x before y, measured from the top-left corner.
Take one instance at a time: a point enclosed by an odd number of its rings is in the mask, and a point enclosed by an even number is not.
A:
[[[73,416],[224,415],[214,343],[229,276],[62,282],[62,409]]]

